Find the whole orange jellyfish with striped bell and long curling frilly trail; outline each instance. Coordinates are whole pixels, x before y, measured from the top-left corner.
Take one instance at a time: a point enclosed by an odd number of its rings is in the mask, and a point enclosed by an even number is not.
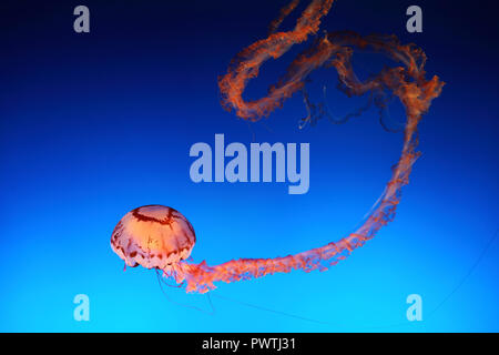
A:
[[[298,54],[277,83],[268,88],[265,97],[245,101],[245,88],[249,80],[258,75],[262,64],[269,59],[277,60],[294,44],[303,43],[309,36],[316,34],[322,18],[329,12],[334,0],[312,0],[294,29],[279,31],[284,18],[296,9],[298,2],[293,0],[281,11],[279,17],[272,22],[266,39],[248,45],[232,60],[227,73],[218,80],[222,105],[234,111],[240,119],[257,121],[283,106],[284,101],[294,93],[303,91],[309,73],[320,67],[337,71],[338,89],[347,97],[369,94],[380,115],[387,104],[383,98],[398,98],[407,116],[404,142],[381,196],[363,223],[337,242],[294,255],[237,258],[213,266],[205,261],[196,264],[187,260],[195,244],[195,234],[191,223],[180,212],[159,205],[139,207],[118,223],[111,237],[113,251],[126,265],[161,270],[165,277],[185,284],[186,292],[206,293],[216,287],[216,282],[231,283],[293,270],[325,271],[365,245],[395,219],[401,189],[409,183],[413,165],[420,154],[416,151],[418,124],[432,100],[440,95],[445,83],[437,75],[426,78],[426,54],[415,44],[401,44],[395,36],[363,37],[352,31],[336,31],[317,38]],[[352,64],[356,50],[384,54],[397,65],[386,67],[378,74],[360,81]],[[301,126],[313,121],[314,116],[309,114]],[[383,123],[383,116],[380,121]]]

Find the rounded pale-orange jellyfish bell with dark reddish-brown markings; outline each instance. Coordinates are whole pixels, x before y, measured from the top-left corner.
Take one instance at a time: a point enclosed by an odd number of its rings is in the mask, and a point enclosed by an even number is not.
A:
[[[166,274],[191,255],[194,229],[179,211],[146,205],[126,213],[114,227],[111,247],[126,265],[159,268]]]

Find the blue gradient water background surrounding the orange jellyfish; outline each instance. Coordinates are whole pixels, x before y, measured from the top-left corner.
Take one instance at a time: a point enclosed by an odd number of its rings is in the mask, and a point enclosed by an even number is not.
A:
[[[85,1],[91,33],[77,34],[72,11],[80,2],[1,2],[0,331],[499,331],[497,240],[466,277],[498,227],[491,1],[417,1],[418,34],[405,30],[413,1],[339,0],[323,21],[328,31],[416,42],[428,54],[428,73],[447,82],[420,124],[422,155],[397,217],[365,247],[324,273],[220,284],[211,293],[214,314],[170,302],[153,271],[123,272],[110,236],[140,205],[181,211],[197,234],[192,256],[215,264],[338,240],[381,193],[401,135],[384,131],[375,110],[344,125],[298,130],[299,94],[249,126],[221,108],[217,75],[266,36],[285,3]],[[297,50],[266,64],[248,97],[263,95]],[[333,71],[312,79],[310,91],[337,82]],[[328,91],[338,114],[358,102]],[[390,110],[403,118],[397,104]],[[288,195],[283,183],[193,183],[189,149],[213,144],[215,133],[245,144],[253,136],[309,142],[309,192]],[[205,295],[166,292],[210,311]],[[73,320],[80,293],[90,297],[90,322]],[[422,322],[406,320],[413,293],[422,296]]]

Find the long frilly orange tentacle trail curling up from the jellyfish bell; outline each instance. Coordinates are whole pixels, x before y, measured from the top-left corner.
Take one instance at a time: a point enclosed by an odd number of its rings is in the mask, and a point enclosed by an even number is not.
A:
[[[240,258],[215,266],[208,266],[205,262],[200,264],[180,262],[175,268],[175,277],[186,282],[187,292],[205,293],[215,288],[214,283],[220,281],[230,283],[298,268],[306,272],[327,270],[345,260],[355,248],[363,246],[394,220],[401,197],[401,187],[408,184],[413,164],[419,156],[419,152],[416,151],[417,125],[421,115],[428,111],[432,99],[440,94],[444,87],[438,77],[430,80],[425,78],[426,55],[422,50],[414,44],[400,44],[394,36],[361,37],[352,31],[328,33],[292,62],[286,74],[277,84],[269,88],[266,97],[248,102],[242,98],[245,85],[257,77],[262,63],[269,58],[279,58],[293,44],[303,42],[308,34],[315,33],[320,18],[328,12],[332,3],[333,1],[312,1],[293,31],[274,32],[267,39],[243,50],[231,63],[227,74],[218,82],[222,103],[224,108],[234,110],[236,115],[244,120],[258,120],[282,106],[287,98],[303,88],[304,80],[313,70],[326,64],[336,69],[339,89],[348,97],[368,92],[377,95],[390,91],[405,106],[407,122],[401,154],[393,168],[384,194],[368,213],[365,222],[354,233],[336,243],[332,242],[285,257]],[[355,75],[350,61],[354,48],[360,50],[370,48],[400,62],[403,67],[384,69],[379,74],[361,82]],[[385,101],[373,99],[373,102],[381,114]]]

